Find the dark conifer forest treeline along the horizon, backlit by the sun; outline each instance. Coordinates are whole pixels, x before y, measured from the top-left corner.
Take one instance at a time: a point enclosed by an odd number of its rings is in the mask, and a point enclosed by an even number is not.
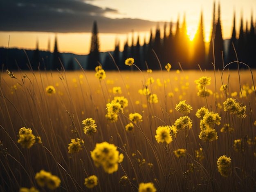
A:
[[[123,51],[120,51],[119,41],[115,42],[115,50],[111,51],[112,57],[120,70],[136,70],[124,65],[126,58],[134,58],[136,65],[141,70],[152,69],[159,70],[170,63],[173,69],[213,69],[213,64],[216,69],[223,69],[225,65],[233,61],[240,61],[246,63],[252,68],[255,68],[256,63],[256,30],[251,18],[250,27],[246,22],[245,31],[243,30],[243,18],[240,18],[239,38],[236,38],[236,16],[234,13],[233,31],[230,40],[226,40],[227,49],[225,49],[225,40],[222,38],[222,26],[220,16],[220,5],[218,5],[218,13],[216,14],[216,5],[213,5],[213,22],[211,31],[211,41],[209,42],[209,49],[206,49],[206,42],[204,42],[204,26],[203,14],[201,12],[200,21],[197,32],[193,41],[189,40],[186,28],[186,16],[184,14],[183,22],[180,27],[180,18],[177,19],[176,29],[173,30],[173,22],[165,23],[163,37],[161,38],[161,30],[157,26],[153,35],[150,31],[150,38],[148,43],[144,39],[144,44],[139,44],[139,36],[137,42],[134,42],[134,35],[132,33],[132,43],[128,45],[128,39],[124,44]],[[132,26],[131,26],[132,27]],[[166,31],[169,29],[169,32]],[[175,33],[174,33],[175,31]],[[94,70],[96,66],[102,65],[105,70],[117,70],[112,57],[109,54],[104,54],[99,51],[100,42],[98,38],[97,21],[92,25],[92,38],[90,53],[81,65],[86,70]],[[62,55],[58,52],[57,37],[55,38],[54,52],[44,53],[38,50],[38,42],[36,42],[36,50],[33,51],[30,62],[27,57],[23,57],[25,61],[16,60],[15,56],[8,53],[8,50],[1,51],[0,56],[4,58],[1,62],[4,68],[8,69],[28,69],[27,67],[35,69],[46,70],[61,70],[65,67],[66,70],[74,70],[76,63],[74,58],[63,60]],[[45,57],[46,58],[43,58]],[[159,59],[159,61],[158,61]],[[19,63],[22,63],[19,65]],[[26,63],[26,65],[24,64]],[[66,63],[65,63],[66,62]],[[161,67],[159,65],[162,65]],[[231,65],[236,68],[237,66]],[[243,66],[241,66],[243,67]]]

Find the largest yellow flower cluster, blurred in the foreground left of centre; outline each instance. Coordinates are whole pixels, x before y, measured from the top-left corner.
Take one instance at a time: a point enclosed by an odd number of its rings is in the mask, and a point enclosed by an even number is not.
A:
[[[94,150],[91,152],[94,165],[103,167],[104,171],[111,174],[118,170],[118,163],[121,163],[124,159],[124,155],[117,150],[114,144],[110,144],[106,141],[102,143],[96,143]]]

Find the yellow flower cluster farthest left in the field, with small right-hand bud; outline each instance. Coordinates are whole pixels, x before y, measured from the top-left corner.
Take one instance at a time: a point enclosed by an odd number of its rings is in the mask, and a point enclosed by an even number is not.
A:
[[[34,134],[32,134],[32,129],[30,128],[20,128],[18,136],[18,143],[20,143],[23,148],[26,147],[29,149],[34,145],[34,143],[42,143],[41,138],[39,136],[34,136]]]

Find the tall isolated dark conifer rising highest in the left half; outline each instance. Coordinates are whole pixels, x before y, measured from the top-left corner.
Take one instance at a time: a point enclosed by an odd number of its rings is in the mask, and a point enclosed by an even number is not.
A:
[[[100,62],[98,27],[97,27],[97,22],[94,21],[93,26],[92,26],[91,47],[90,47],[90,53],[88,55],[86,69],[95,70],[95,67],[97,67],[99,65],[98,62]]]

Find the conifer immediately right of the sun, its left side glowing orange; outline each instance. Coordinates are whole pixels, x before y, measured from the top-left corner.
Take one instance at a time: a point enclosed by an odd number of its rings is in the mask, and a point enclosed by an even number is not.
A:
[[[203,31],[203,13],[201,12],[201,18],[200,18],[200,23],[198,26],[198,30],[195,33],[194,37],[194,54],[193,54],[193,63],[191,63],[191,68],[197,69],[198,64],[202,69],[205,69],[205,44],[204,44],[204,31]]]

